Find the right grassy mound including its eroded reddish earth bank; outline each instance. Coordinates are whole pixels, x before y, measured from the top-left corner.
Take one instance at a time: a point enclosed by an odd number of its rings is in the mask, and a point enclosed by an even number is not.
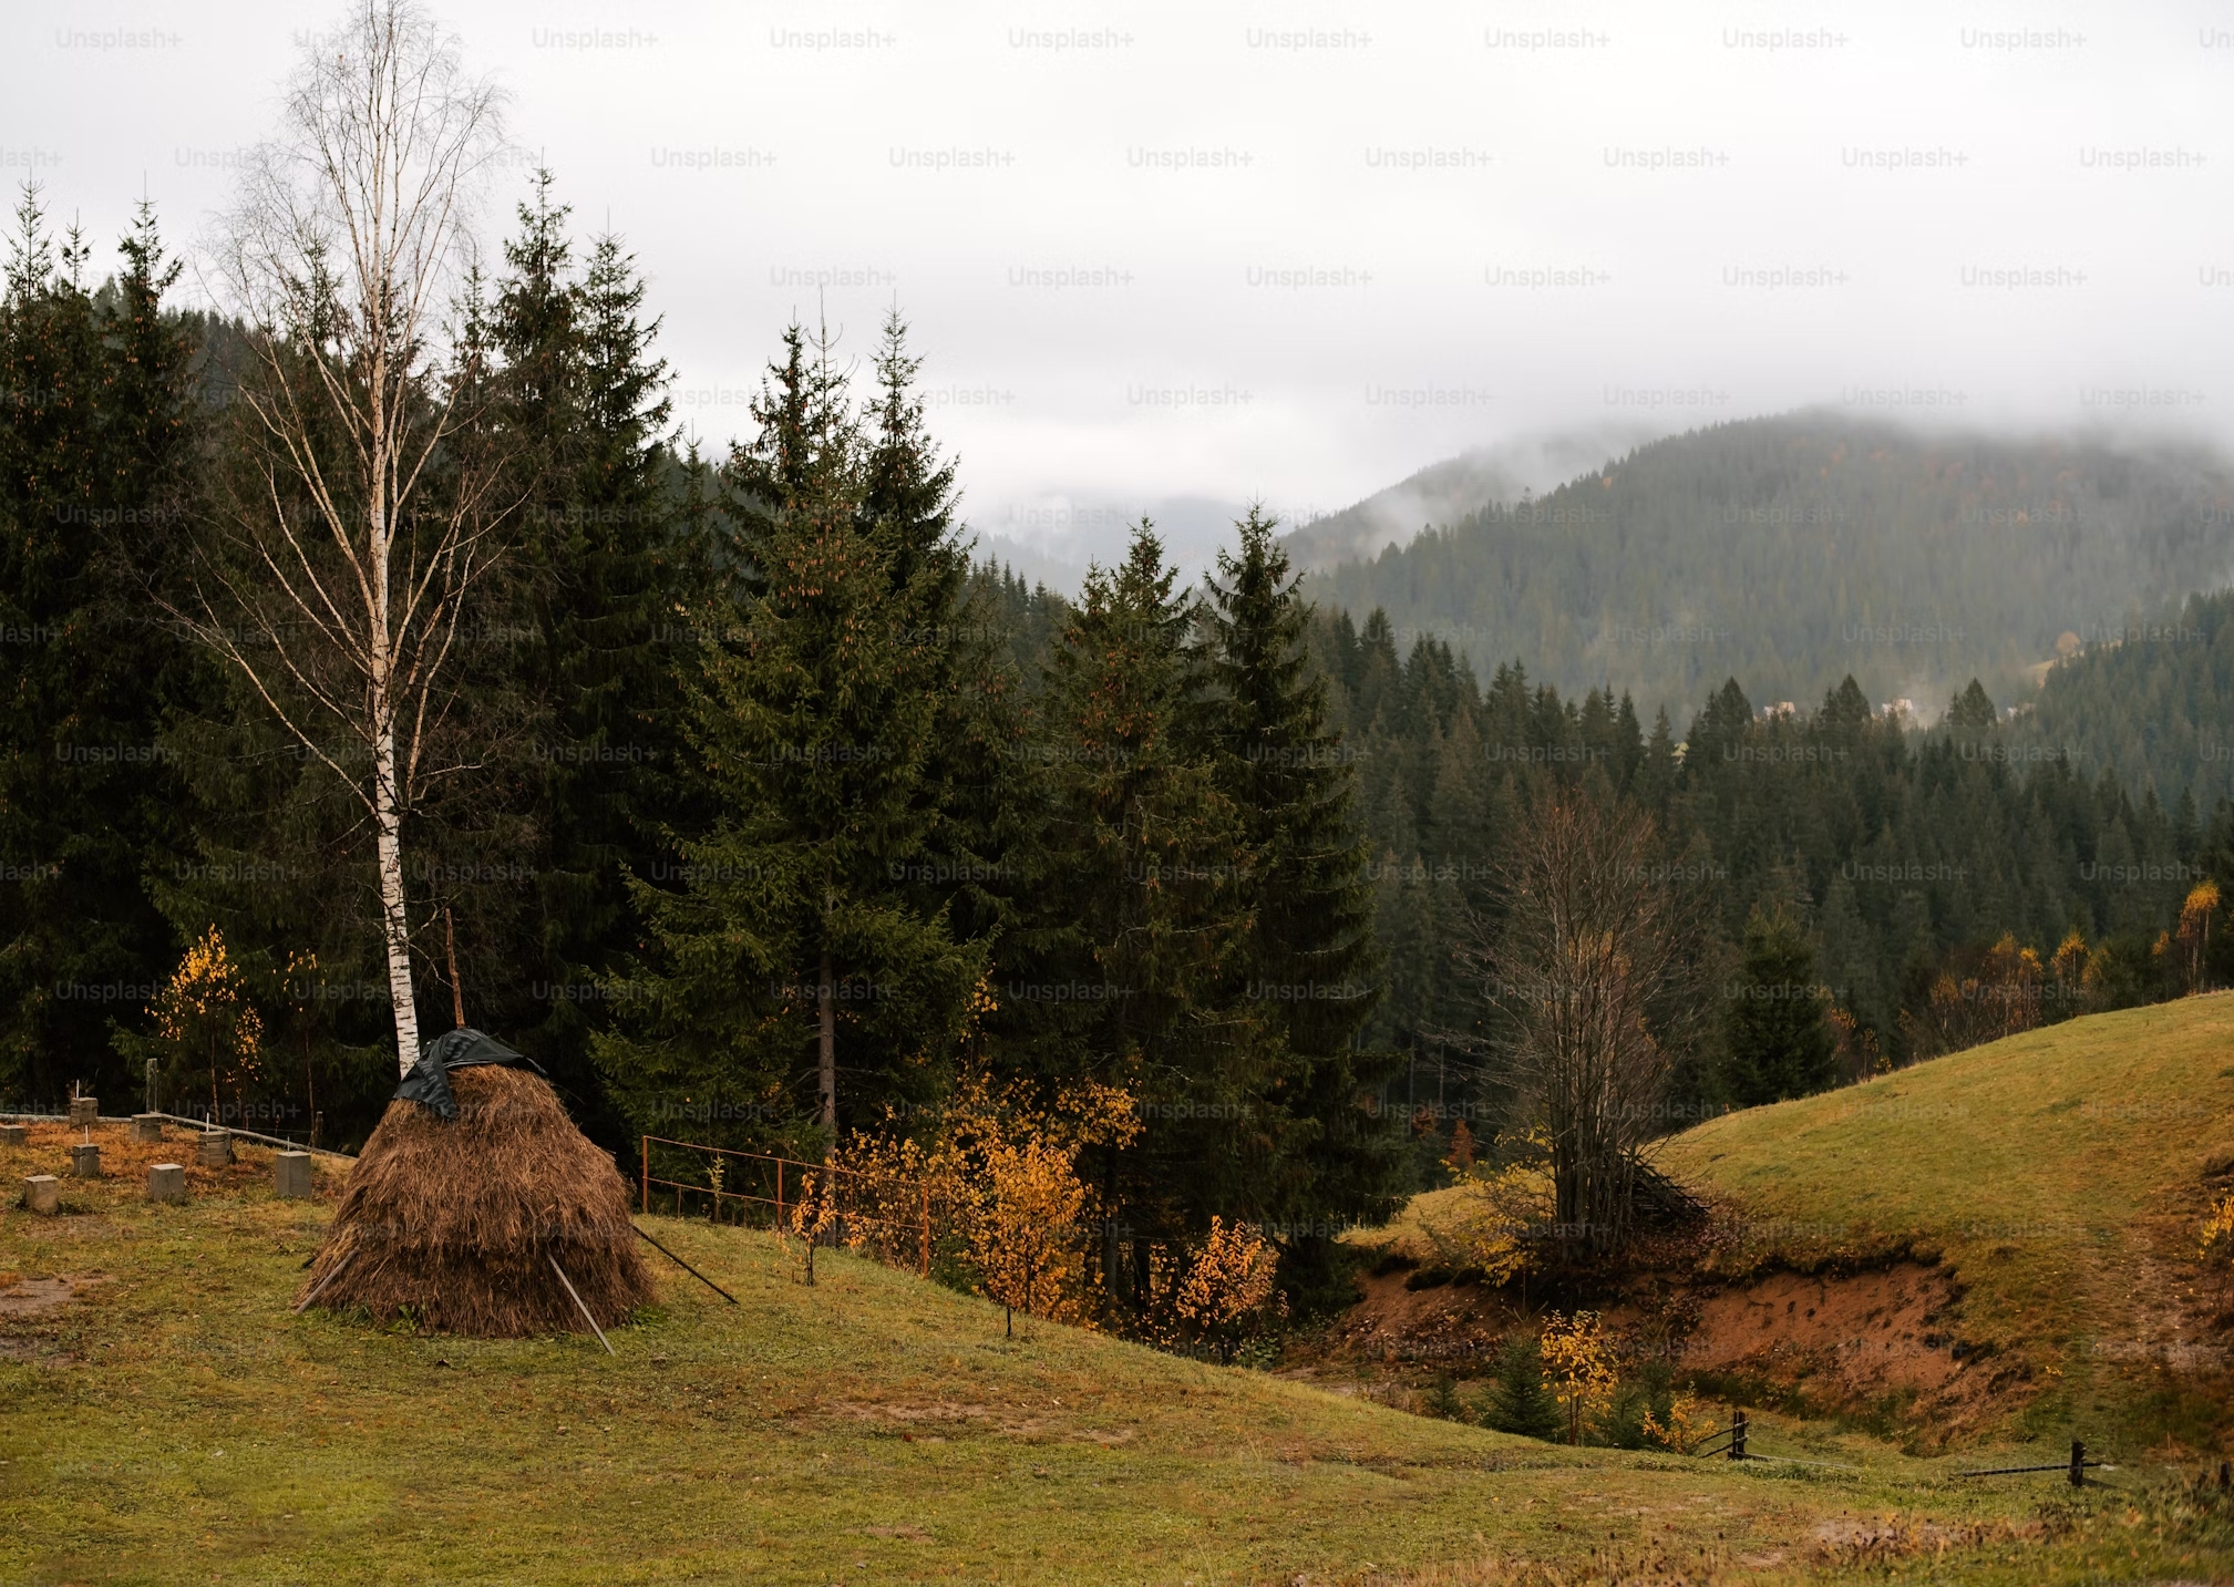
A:
[[[1917,1448],[2024,1437],[2234,1453],[2234,1274],[2196,1227],[2234,1187],[2234,995],[2093,1015],[1698,1124],[1660,1167],[1716,1211],[1588,1296],[1638,1348],[1756,1406]],[[1392,1254],[1314,1368],[1488,1361],[1537,1283],[1421,1287],[1461,1191]],[[1387,1272],[1387,1267],[1398,1267]],[[1396,1372],[1405,1377],[1405,1372]],[[1410,1377],[1419,1377],[1419,1368]]]

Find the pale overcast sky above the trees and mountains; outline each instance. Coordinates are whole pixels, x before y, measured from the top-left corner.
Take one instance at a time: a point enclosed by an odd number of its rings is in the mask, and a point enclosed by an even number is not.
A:
[[[2225,4],[438,13],[521,183],[632,244],[701,438],[791,313],[860,353],[898,300],[972,523],[1066,561],[1173,498],[1810,402],[2230,431]],[[105,264],[143,188],[208,226],[324,13],[7,18],[0,161]]]

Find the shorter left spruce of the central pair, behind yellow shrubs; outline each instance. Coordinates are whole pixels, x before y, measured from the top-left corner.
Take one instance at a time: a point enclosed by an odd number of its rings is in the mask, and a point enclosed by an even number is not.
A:
[[[1151,1245],[1213,1214],[1264,1216],[1260,1167],[1280,1127],[1260,1111],[1280,1071],[1271,1013],[1231,975],[1251,934],[1247,849],[1206,753],[1195,601],[1175,586],[1142,521],[1117,568],[1088,570],[1054,648],[1034,744],[1050,805],[1034,890],[1046,979],[1005,988],[1057,1004],[1041,1053],[1139,1102],[1142,1135],[1086,1165],[1110,1294],[1135,1303]]]

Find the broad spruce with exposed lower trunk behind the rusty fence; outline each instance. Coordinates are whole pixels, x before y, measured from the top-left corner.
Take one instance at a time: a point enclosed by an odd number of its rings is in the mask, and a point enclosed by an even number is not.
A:
[[[639,1120],[663,1104],[755,1124],[717,1135],[829,1147],[878,1104],[920,1102],[983,975],[914,901],[941,700],[891,621],[896,557],[862,514],[862,463],[827,344],[784,333],[731,454],[733,583],[699,601],[686,731],[717,800],[681,838],[681,894],[639,885],[657,941],[648,1006],[596,1042]],[[918,568],[900,599],[920,599]]]

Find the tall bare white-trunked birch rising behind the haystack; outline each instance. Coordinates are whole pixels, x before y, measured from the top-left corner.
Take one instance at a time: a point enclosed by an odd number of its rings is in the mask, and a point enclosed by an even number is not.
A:
[[[471,315],[445,322],[474,291],[500,112],[409,0],[362,0],[308,47],[221,230],[219,295],[250,329],[246,478],[179,606],[364,805],[400,1068],[404,816],[458,769],[431,753],[458,706],[445,668],[505,519]]]

